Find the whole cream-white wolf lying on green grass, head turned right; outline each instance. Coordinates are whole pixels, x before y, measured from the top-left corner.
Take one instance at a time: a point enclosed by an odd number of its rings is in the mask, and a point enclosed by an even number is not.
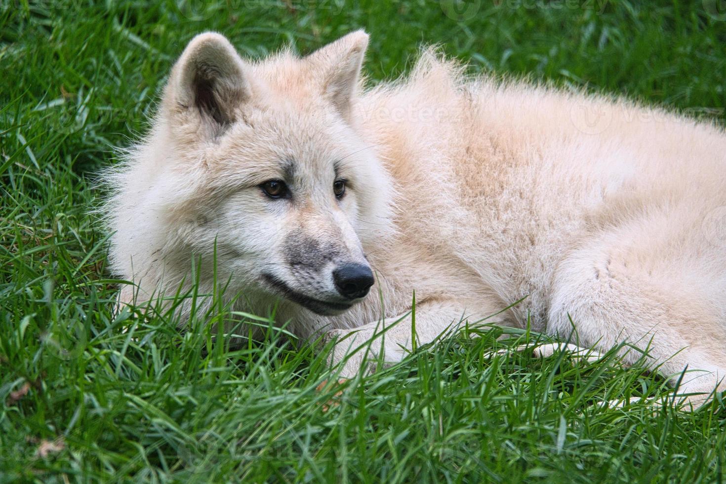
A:
[[[724,389],[722,130],[467,79],[431,50],[364,90],[367,40],[257,62],[217,33],[189,43],[150,134],[110,175],[110,260],[138,297],[189,282],[194,261],[211,290],[216,257],[245,310],[278,302],[302,337],[354,333],[336,360],[401,319],[371,346],[386,361],[412,346],[414,290],[418,343],[523,298],[496,321],[647,347],[681,394],[704,394],[691,403]]]

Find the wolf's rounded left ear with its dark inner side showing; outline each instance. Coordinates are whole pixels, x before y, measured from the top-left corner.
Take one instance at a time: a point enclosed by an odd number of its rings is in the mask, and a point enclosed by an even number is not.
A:
[[[195,121],[212,136],[236,119],[251,96],[245,65],[227,38],[206,32],[192,38],[171,71],[164,96],[181,123]]]

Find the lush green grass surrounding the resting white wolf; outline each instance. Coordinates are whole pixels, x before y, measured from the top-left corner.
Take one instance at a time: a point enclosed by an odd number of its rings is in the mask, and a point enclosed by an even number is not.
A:
[[[171,62],[201,30],[260,56],[363,27],[374,82],[440,43],[475,72],[723,121],[717,0],[205,4],[0,0],[0,481],[722,481],[724,403],[603,409],[667,388],[613,358],[492,357],[496,328],[418,348],[348,382],[325,411],[338,390],[316,390],[325,354],[273,329],[230,349],[205,324],[224,308],[184,335],[169,315],[113,316],[105,234],[87,215],[93,173],[144,131]],[[507,345],[537,338],[515,333]]]

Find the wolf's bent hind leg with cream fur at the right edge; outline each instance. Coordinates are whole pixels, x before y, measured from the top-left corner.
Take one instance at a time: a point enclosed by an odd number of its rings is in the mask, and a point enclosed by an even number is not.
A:
[[[698,408],[726,390],[723,324],[703,292],[682,283],[687,268],[646,249],[600,241],[572,253],[555,275],[547,332],[600,350],[629,343],[637,349],[624,348],[623,361],[644,357],[678,385],[669,402]]]

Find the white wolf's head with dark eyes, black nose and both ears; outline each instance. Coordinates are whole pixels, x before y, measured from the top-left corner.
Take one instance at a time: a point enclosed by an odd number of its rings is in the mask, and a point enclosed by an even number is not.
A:
[[[391,181],[355,110],[367,41],[245,62],[217,33],[193,38],[152,133],[112,179],[116,270],[163,292],[198,263],[202,285],[325,315],[362,300],[366,247],[391,218]]]

